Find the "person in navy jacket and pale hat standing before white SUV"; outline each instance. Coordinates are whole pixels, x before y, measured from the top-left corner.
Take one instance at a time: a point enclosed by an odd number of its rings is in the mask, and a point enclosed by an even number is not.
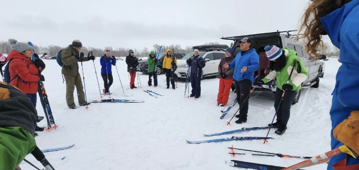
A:
[[[193,51],[192,58],[189,58],[186,62],[188,66],[191,66],[192,94],[190,95],[190,97],[199,98],[201,97],[201,78],[203,72],[202,69],[206,66],[206,62],[200,56],[198,49],[195,49]]]

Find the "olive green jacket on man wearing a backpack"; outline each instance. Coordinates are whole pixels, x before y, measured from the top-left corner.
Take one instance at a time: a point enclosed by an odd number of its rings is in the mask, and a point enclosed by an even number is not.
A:
[[[61,61],[64,63],[61,72],[64,75],[77,76],[80,74],[78,62],[81,62],[81,59],[76,59],[75,54],[79,53],[79,51],[73,48],[72,45],[69,45],[69,48],[63,49],[63,52],[61,53]],[[87,62],[87,57],[82,58],[82,61]]]

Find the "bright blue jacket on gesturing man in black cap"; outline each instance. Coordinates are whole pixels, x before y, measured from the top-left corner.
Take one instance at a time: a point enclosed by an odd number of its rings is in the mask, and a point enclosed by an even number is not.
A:
[[[243,56],[238,52],[234,60],[228,63],[229,68],[234,68],[233,79],[236,81],[251,80],[253,82],[254,72],[259,68],[259,55],[256,49],[249,49]],[[247,66],[247,71],[241,73],[243,67]]]

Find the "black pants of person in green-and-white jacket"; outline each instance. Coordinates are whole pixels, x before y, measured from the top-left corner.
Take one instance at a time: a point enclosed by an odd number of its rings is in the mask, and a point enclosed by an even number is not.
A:
[[[287,125],[290,117],[290,107],[296,96],[297,91],[285,91],[282,102],[280,103],[277,112],[277,122],[282,125]],[[277,88],[275,92],[274,108],[277,109],[283,90]]]

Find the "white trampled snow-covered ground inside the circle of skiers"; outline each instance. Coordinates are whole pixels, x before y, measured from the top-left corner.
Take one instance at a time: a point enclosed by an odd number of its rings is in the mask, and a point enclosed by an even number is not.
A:
[[[204,137],[203,134],[230,131],[243,127],[267,126],[274,116],[272,92],[254,92],[250,98],[248,122],[227,126],[238,105],[220,120],[220,110],[215,106],[218,92],[217,78],[202,80],[201,98],[184,97],[185,82],[179,81],[176,90],[165,88],[165,76],[158,76],[159,87],[148,87],[148,76],[140,73],[143,88],[130,89],[125,61],[117,61],[117,69],[127,95],[123,91],[112,67],[114,83],[111,98],[144,99],[144,103],[92,103],[89,109],[81,106],[69,109],[65,100],[61,67],[55,60],[44,60],[45,88],[58,128],[39,132],[35,139],[40,149],[75,146],[68,150],[45,153],[55,169],[234,169],[225,164],[233,159],[230,147],[278,152],[288,155],[315,156],[330,150],[331,122],[329,110],[335,75],[341,65],[336,59],[326,61],[327,69],[319,88],[302,91],[300,101],[291,108],[288,129],[282,136],[271,130],[269,143],[261,140],[229,141],[220,143],[189,144],[189,141],[226,138],[231,136],[266,136],[267,130]],[[79,63],[80,64],[80,63]],[[95,61],[101,91],[99,58]],[[81,64],[80,64],[81,65]],[[87,100],[100,99],[93,62],[84,62]],[[82,74],[80,66],[80,74]],[[137,78],[136,78],[137,86]],[[143,90],[153,90],[164,96],[151,97]],[[75,92],[76,94],[76,92]],[[235,95],[235,94],[234,94]],[[104,98],[108,98],[105,96]],[[77,97],[75,95],[75,103]],[[41,104],[38,114],[44,116]],[[39,123],[45,127],[46,121]],[[246,153],[235,151],[237,153]],[[248,152],[247,152],[248,153]],[[66,157],[65,157],[66,156]],[[64,160],[62,158],[65,157]],[[29,154],[26,159],[42,168],[40,162]],[[302,161],[298,158],[236,155],[236,160],[251,161],[278,166],[289,166]],[[34,169],[26,162],[23,169]],[[326,169],[326,164],[306,169]]]

